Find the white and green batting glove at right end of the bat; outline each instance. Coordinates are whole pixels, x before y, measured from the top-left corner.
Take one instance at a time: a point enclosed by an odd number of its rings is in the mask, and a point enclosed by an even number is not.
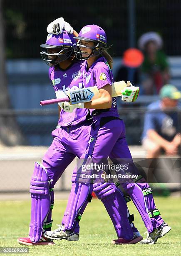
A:
[[[126,83],[126,86],[121,91],[121,100],[126,102],[134,102],[136,101],[138,95],[139,95],[139,87],[133,86],[130,81]]]

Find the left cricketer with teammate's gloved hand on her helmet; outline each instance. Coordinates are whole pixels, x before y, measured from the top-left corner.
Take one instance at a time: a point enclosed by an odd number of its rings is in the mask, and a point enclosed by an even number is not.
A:
[[[84,63],[74,59],[72,44],[75,42],[76,40],[73,38],[73,35],[68,34],[64,30],[58,35],[49,34],[46,44],[41,45],[42,48],[47,49],[47,51],[42,51],[41,54],[42,58],[50,66],[49,77],[57,97],[64,97],[67,91],[78,90],[83,86]],[[34,173],[30,182],[32,210],[29,237],[18,238],[18,243],[23,245],[54,244],[52,239],[44,236],[45,231],[50,230],[52,226],[53,187],[72,160],[76,156],[80,158],[83,155],[90,138],[92,118],[89,110],[82,108],[84,106],[79,104],[77,108],[71,110],[71,113],[68,113],[63,110],[63,105],[65,104],[60,103],[62,108],[60,109],[60,119],[58,122],[59,128],[52,132],[54,138],[52,145],[43,157],[42,164],[35,163]],[[69,106],[69,108],[72,107]],[[89,144],[92,145],[91,142]],[[78,183],[76,183],[75,176],[77,176],[76,169],[72,177],[72,187],[77,189]],[[86,195],[86,198],[84,206],[79,206],[79,216],[91,199],[92,189],[93,184],[91,186],[84,186],[85,192],[83,190],[83,193]],[[111,198],[109,197],[109,201],[112,201],[109,202],[109,205],[104,205],[107,207],[110,216],[114,215],[116,211],[117,222],[115,222],[113,217],[112,221],[117,231],[117,236],[118,238],[130,237],[131,243],[136,243],[136,239],[133,238],[133,231],[138,233],[137,236],[140,235],[133,224],[133,229],[129,224],[126,201],[114,184],[112,184],[111,189],[113,195]],[[115,207],[115,204],[117,204],[117,207]],[[112,208],[115,208],[115,210],[112,210]],[[76,232],[71,233],[67,240],[78,240],[79,216],[76,216],[74,223],[74,230]]]

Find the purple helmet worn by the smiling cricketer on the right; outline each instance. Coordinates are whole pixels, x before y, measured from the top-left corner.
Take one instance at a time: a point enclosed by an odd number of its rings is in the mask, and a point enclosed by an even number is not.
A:
[[[74,38],[79,40],[77,42],[77,44],[73,44],[74,52],[76,54],[77,59],[89,59],[91,56],[99,55],[102,53],[102,51],[107,46],[106,33],[101,27],[99,27],[97,25],[84,26],[81,29],[79,36],[74,37]],[[91,42],[94,42],[95,45],[94,45],[94,47],[84,46],[84,45],[80,44],[80,40],[91,41]],[[81,51],[80,51],[80,46],[84,47],[84,48],[92,49],[92,53],[89,54],[87,57],[83,58]]]

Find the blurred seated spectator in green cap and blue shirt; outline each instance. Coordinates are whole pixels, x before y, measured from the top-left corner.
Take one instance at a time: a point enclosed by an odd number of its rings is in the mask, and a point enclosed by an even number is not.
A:
[[[159,157],[161,150],[166,155],[179,154],[181,144],[180,125],[181,92],[174,85],[166,84],[160,90],[160,100],[151,103],[144,119],[142,144],[147,158]]]

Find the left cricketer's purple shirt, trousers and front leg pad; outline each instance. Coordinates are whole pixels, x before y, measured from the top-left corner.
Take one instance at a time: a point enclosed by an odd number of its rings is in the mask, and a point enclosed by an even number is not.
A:
[[[82,69],[81,61],[73,62],[71,68],[69,67],[67,70],[61,70],[55,67],[50,68],[49,75],[56,95],[58,95],[59,91],[66,93],[69,90],[78,90],[79,87],[82,87]],[[80,157],[85,151],[87,141],[89,141],[91,123],[92,120],[90,119],[89,110],[87,109],[74,109],[72,113],[66,113],[61,109],[60,120],[58,122],[61,127],[52,131],[53,142],[43,157],[42,164],[35,164],[35,170],[31,180],[30,192],[33,203],[29,235],[32,242],[40,241],[42,232],[51,229],[52,207],[54,204],[53,187],[73,159],[76,156]],[[44,172],[46,175],[44,175]],[[39,173],[42,173],[42,177],[39,177]],[[36,174],[38,176],[36,176]],[[44,181],[42,183],[42,186],[44,186],[45,179],[47,178],[49,180],[50,202],[48,203],[48,200],[42,200],[41,209],[43,212],[49,213],[47,216],[45,215],[44,218],[42,215],[42,221],[44,219],[43,230],[38,230],[36,225],[40,225],[40,222],[37,222],[37,224],[35,222],[34,204],[37,200],[36,193],[40,192],[33,188],[37,188],[37,182],[40,183]],[[39,181],[34,181],[36,179]],[[45,193],[47,193],[46,190]],[[38,218],[40,218],[40,216]]]

